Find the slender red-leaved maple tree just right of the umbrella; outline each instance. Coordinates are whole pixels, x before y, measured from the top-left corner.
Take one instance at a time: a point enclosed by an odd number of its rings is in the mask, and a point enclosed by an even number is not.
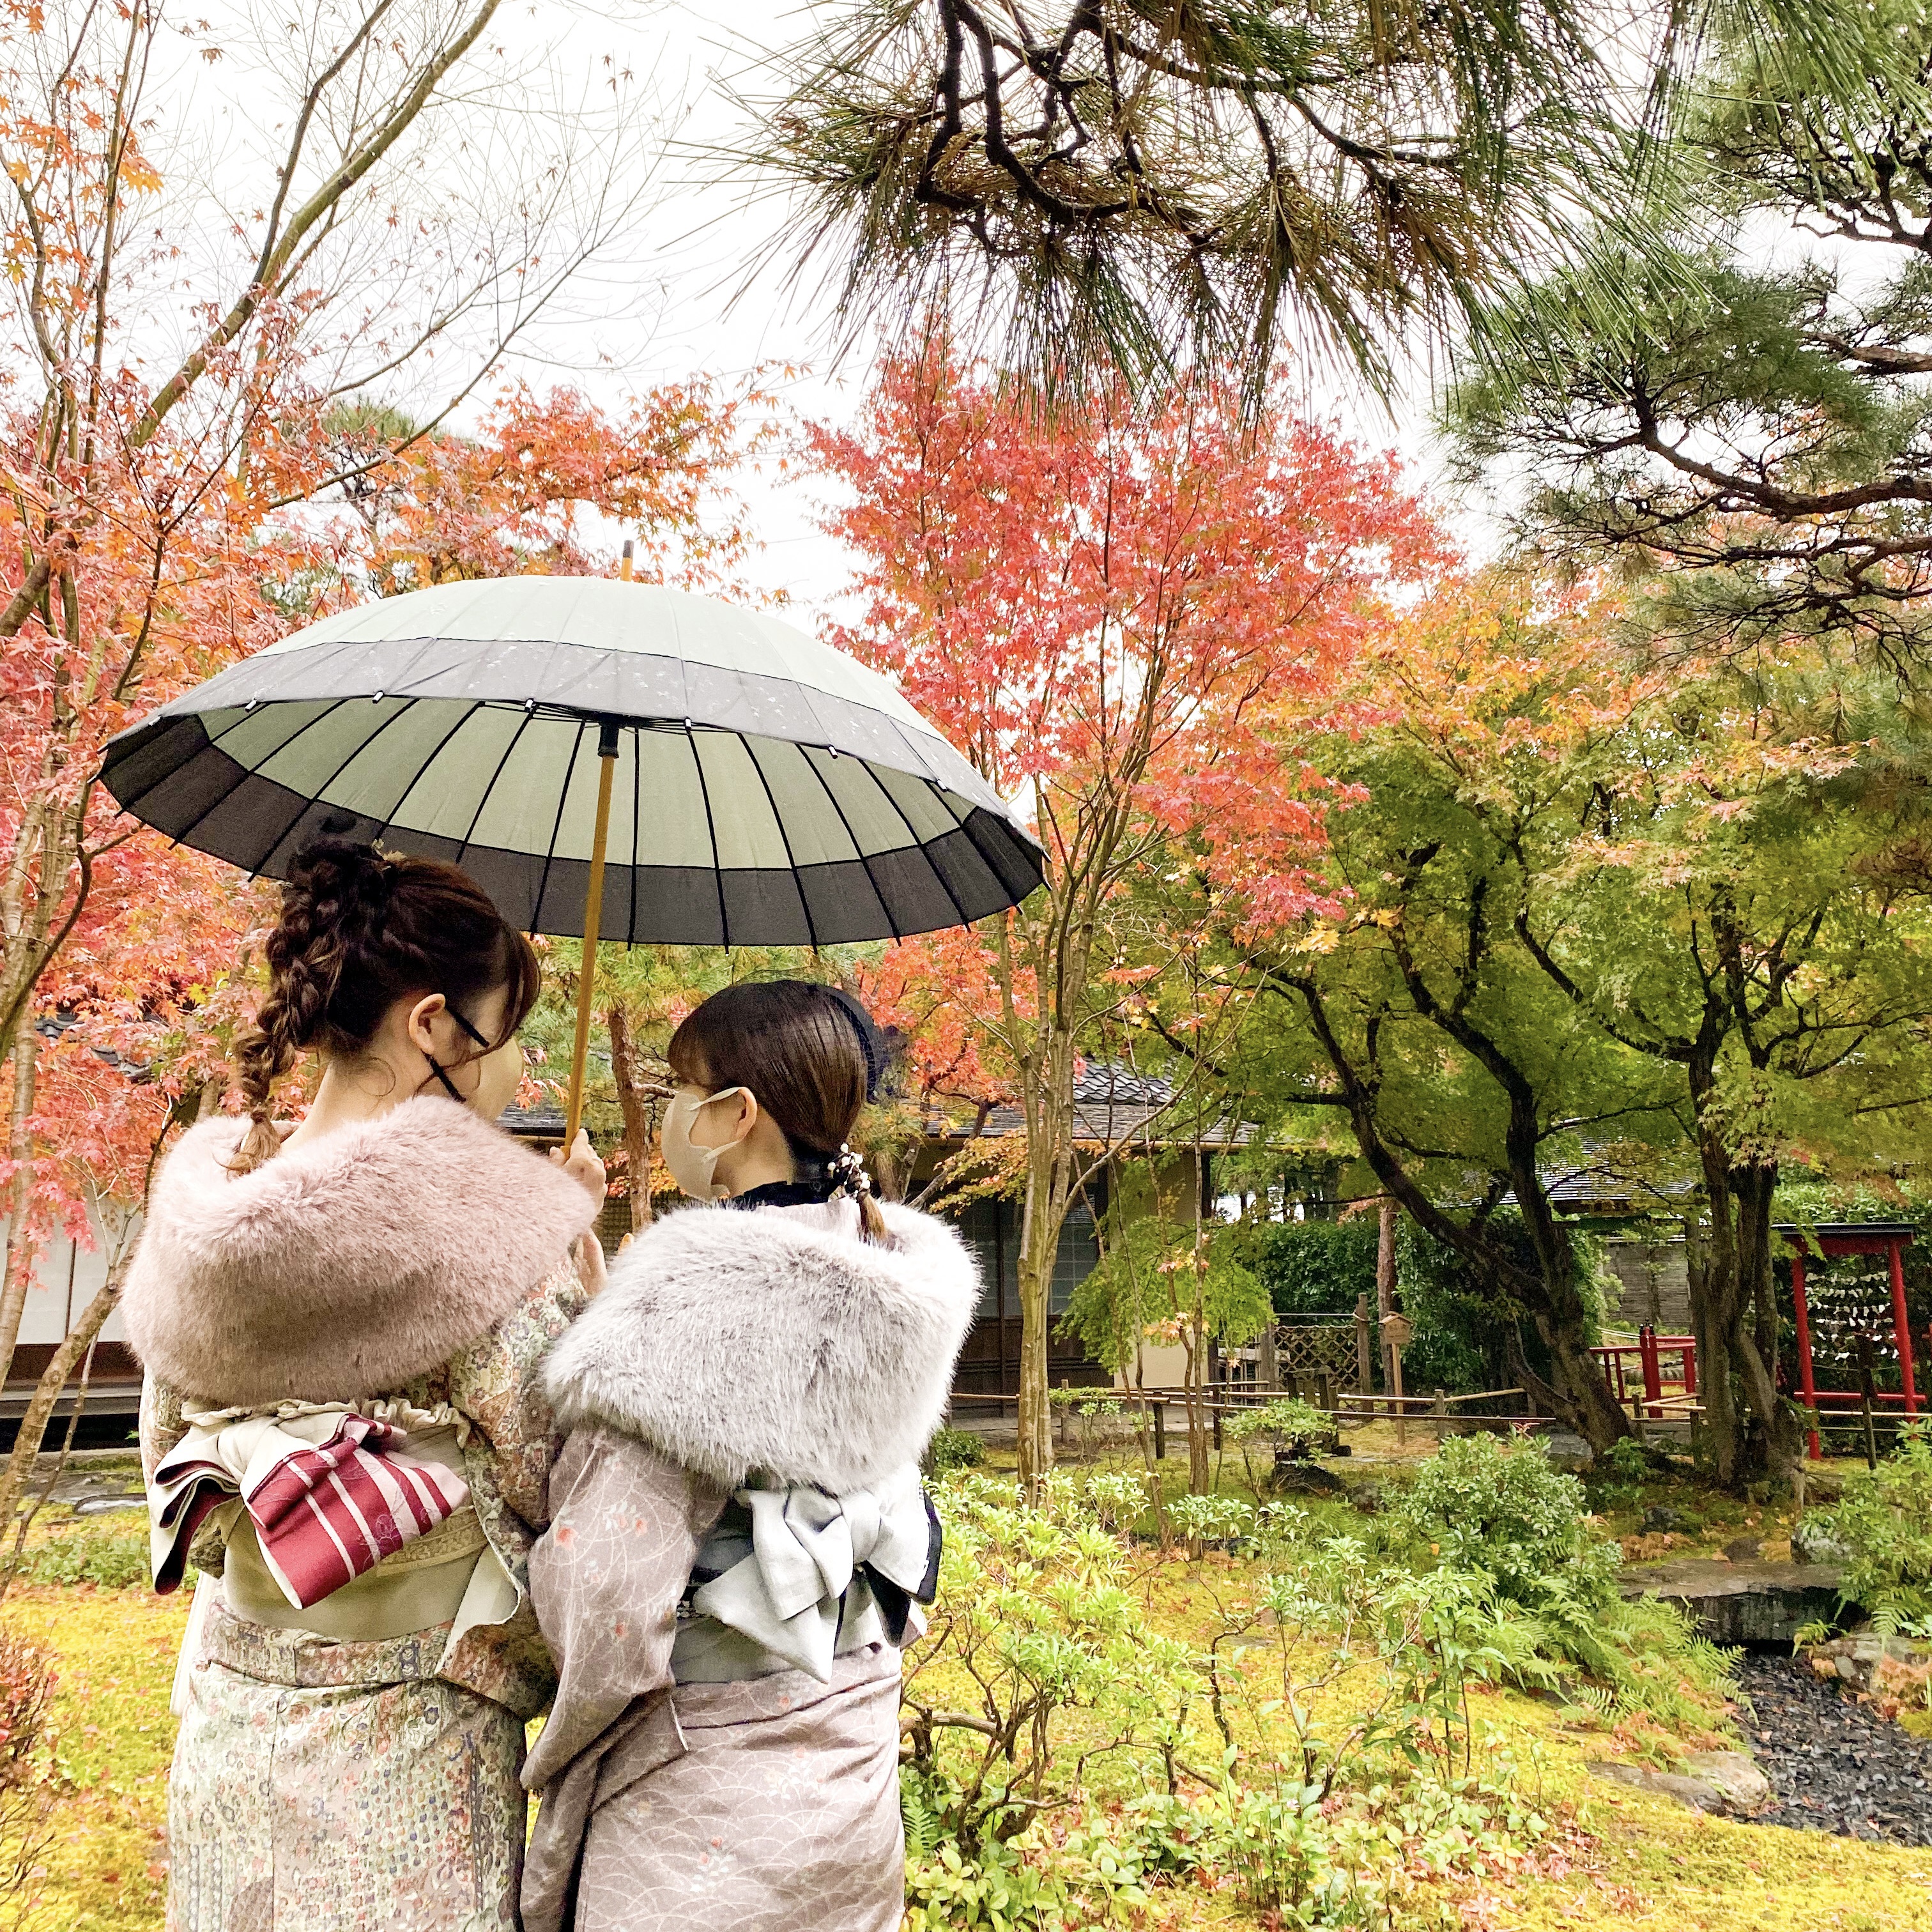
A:
[[[1036,1480],[1047,1291],[1080,1179],[1074,1070],[1119,993],[1122,887],[1184,862],[1260,925],[1321,893],[1323,784],[1296,746],[1331,717],[1389,593],[1447,551],[1393,458],[1281,396],[1250,429],[1211,383],[1047,410],[933,352],[883,367],[858,427],[813,431],[811,452],[844,498],[829,527],[864,558],[864,614],[837,641],[898,678],[1047,846],[1026,908],[910,943],[873,980],[887,1018],[920,1022],[925,1078],[991,1078],[1026,1122],[1020,1466]]]

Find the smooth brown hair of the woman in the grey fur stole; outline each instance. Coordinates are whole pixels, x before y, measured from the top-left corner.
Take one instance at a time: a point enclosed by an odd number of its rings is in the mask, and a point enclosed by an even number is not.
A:
[[[792,1159],[837,1161],[875,1082],[869,1022],[858,1003],[811,980],[757,980],[713,993],[670,1036],[665,1059],[692,1086],[744,1086],[777,1121]],[[885,1217],[860,1194],[860,1227],[885,1238]]]

